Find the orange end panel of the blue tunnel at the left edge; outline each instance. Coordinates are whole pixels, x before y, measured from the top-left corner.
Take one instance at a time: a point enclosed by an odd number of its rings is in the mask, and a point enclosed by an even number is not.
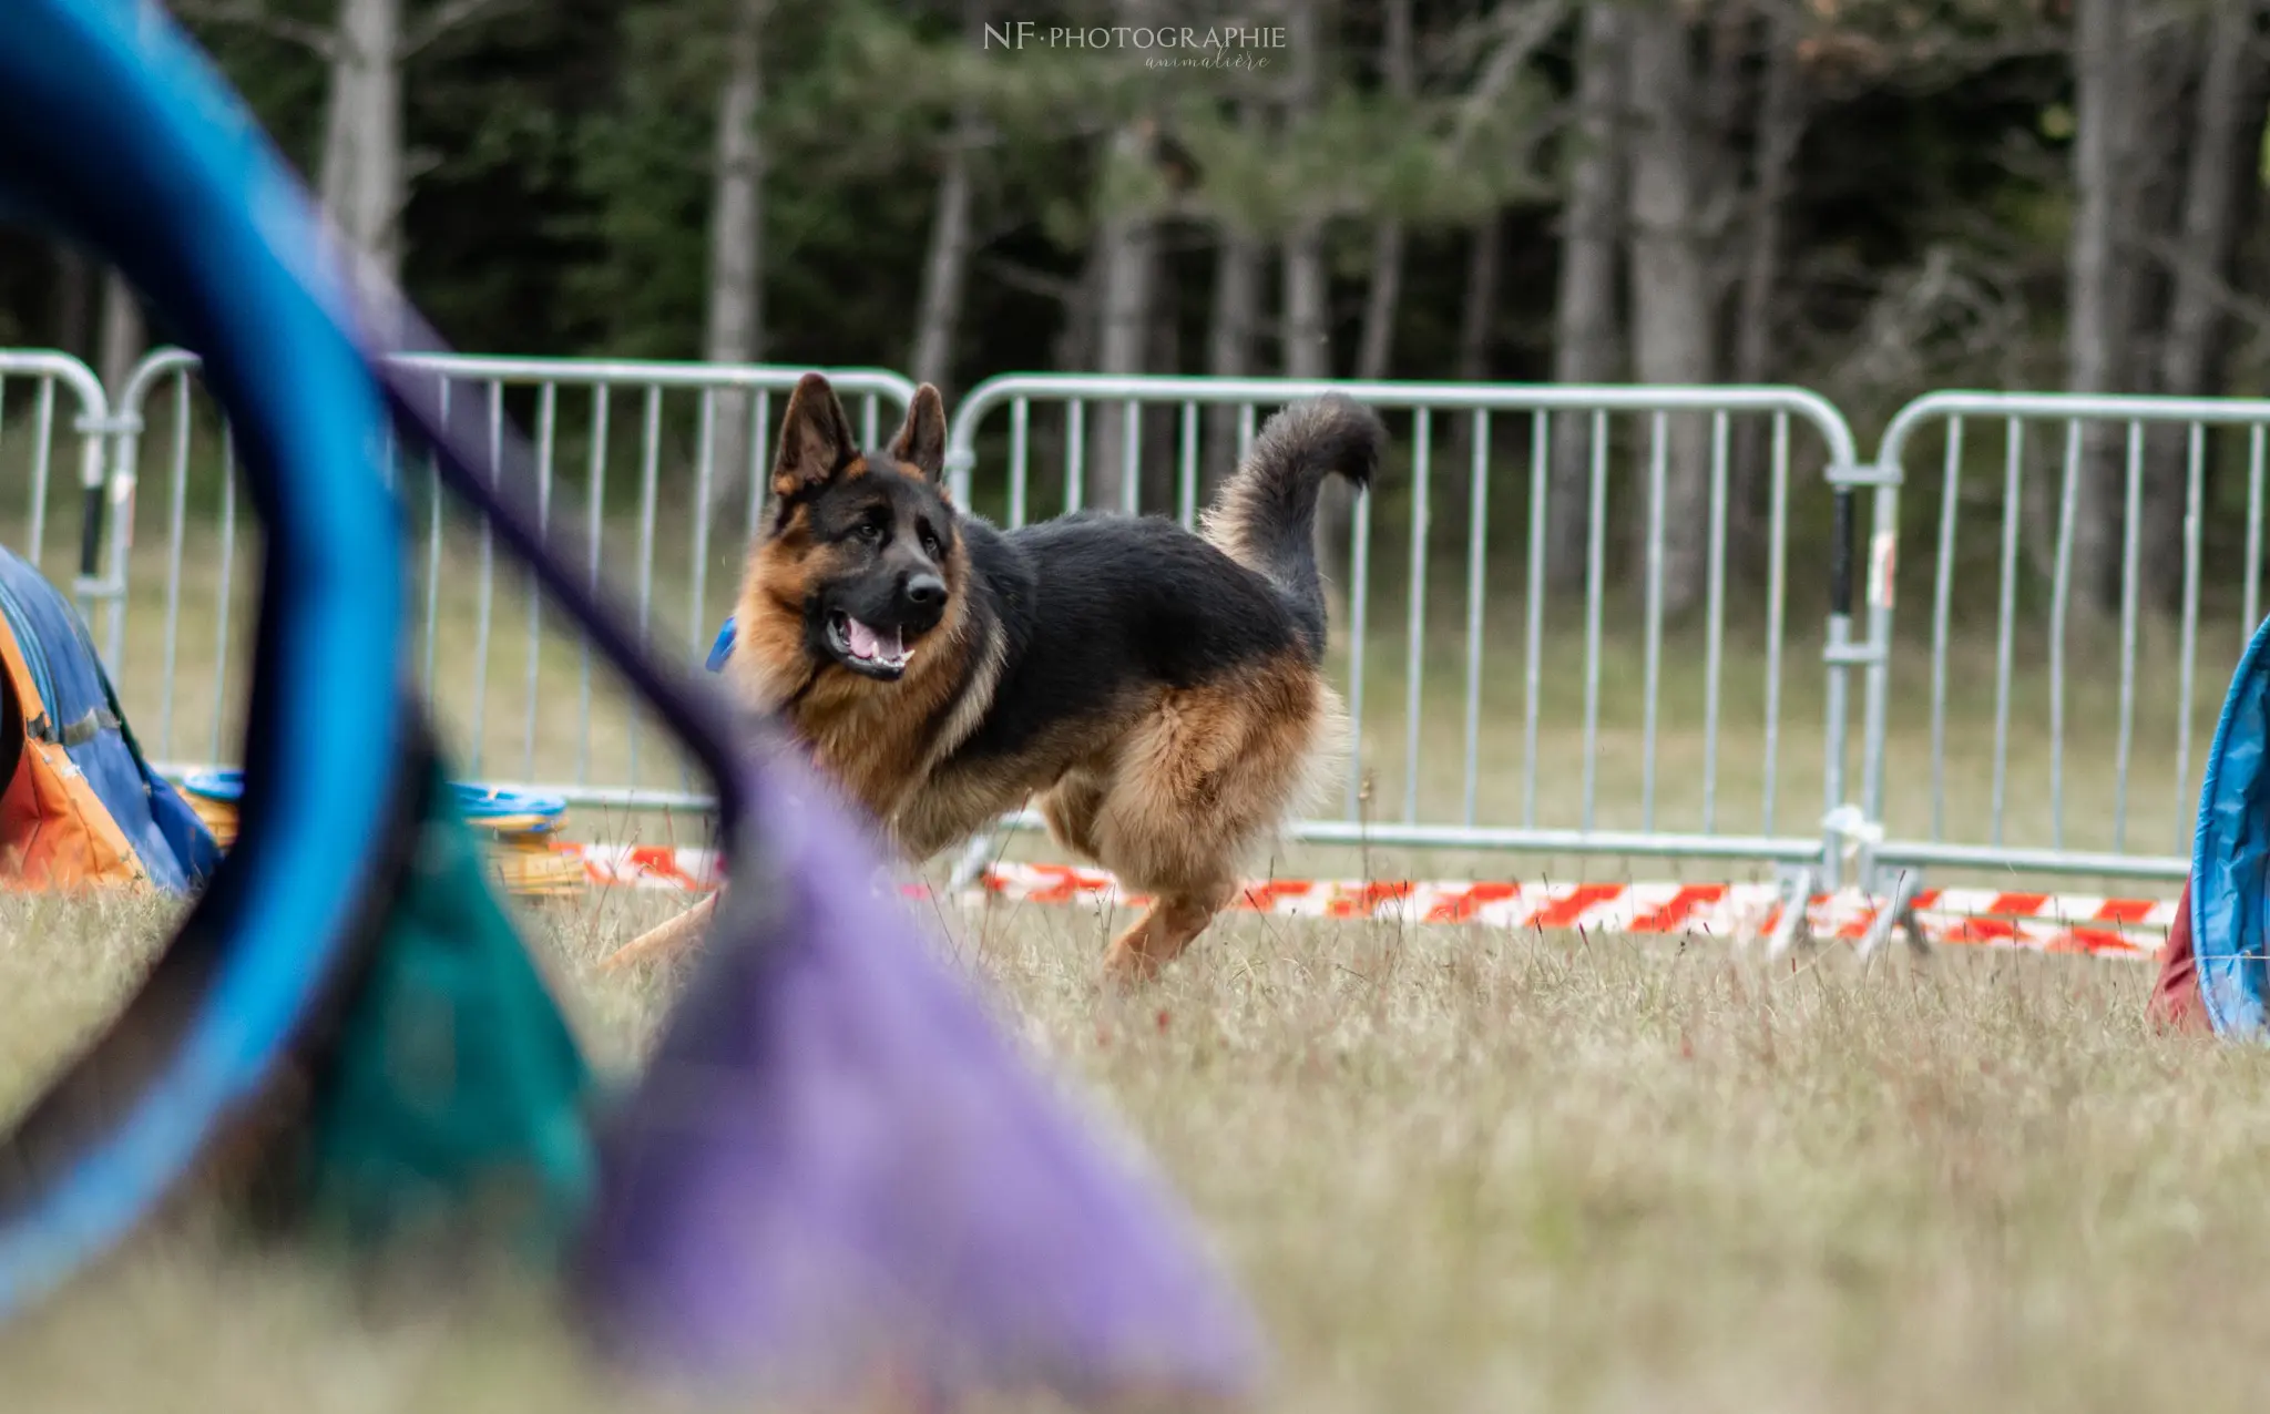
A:
[[[36,722],[48,704],[23,658],[14,633],[0,631],[5,690],[14,692],[25,722]],[[125,831],[111,819],[93,785],[54,742],[23,744],[16,776],[0,790],[0,890],[50,892],[145,883],[141,860]]]

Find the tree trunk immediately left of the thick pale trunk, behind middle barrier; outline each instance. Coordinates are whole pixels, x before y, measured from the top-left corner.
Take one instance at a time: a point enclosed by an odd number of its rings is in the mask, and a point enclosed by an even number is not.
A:
[[[1559,288],[1553,309],[1553,381],[1603,384],[1616,377],[1616,245],[1623,234],[1625,16],[1616,5],[1584,7],[1578,48],[1575,132],[1569,197],[1562,204]],[[1546,576],[1584,579],[1591,522],[1591,418],[1571,413],[1553,427],[1546,486]]]

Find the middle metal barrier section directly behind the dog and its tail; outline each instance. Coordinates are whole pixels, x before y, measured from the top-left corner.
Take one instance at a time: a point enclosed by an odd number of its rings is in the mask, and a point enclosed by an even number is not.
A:
[[[1800,388],[1580,388],[1580,386],[1480,386],[1480,384],[1305,384],[1287,379],[1178,379],[1178,377],[1094,377],[1094,374],[1017,374],[978,384],[953,413],[949,431],[947,465],[962,504],[992,502],[1003,506],[1008,524],[1024,522],[1035,508],[1053,513],[1058,506],[1076,508],[1090,502],[1090,481],[1110,483],[1108,499],[1121,511],[1135,513],[1171,497],[1174,513],[1187,524],[1201,499],[1201,411],[1212,409],[1217,418],[1235,418],[1235,452],[1251,443],[1258,411],[1280,406],[1296,397],[1339,390],[1382,413],[1407,415],[1407,429],[1394,431],[1394,456],[1407,454],[1407,470],[1382,474],[1371,495],[1357,497],[1351,517],[1351,542],[1346,565],[1346,660],[1339,665],[1339,688],[1348,704],[1351,724],[1360,749],[1355,751],[1342,810],[1328,819],[1303,819],[1289,831],[1292,838],[1323,844],[1376,844],[1376,847],[1453,847],[1453,849],[1505,849],[1555,856],[1687,856],[1718,860],[1755,860],[1784,865],[1798,872],[1796,881],[1814,878],[1814,872],[1830,862],[1830,844],[1814,828],[1814,817],[1805,817],[1805,833],[1780,831],[1775,813],[1782,794],[1782,670],[1789,647],[1786,624],[1786,556],[1789,556],[1789,511],[1791,493],[1802,490],[1791,481],[1791,436],[1805,431],[1818,445],[1821,468],[1830,472],[1816,481],[1839,504],[1848,497],[1846,483],[1861,477],[1857,468],[1852,434],[1843,418],[1825,399]],[[1035,409],[1053,413],[1035,418]],[[999,456],[999,483],[981,486],[974,470],[981,465],[978,443],[987,420],[1006,413],[1006,443]],[[1108,415],[1108,418],[1105,418]],[[1451,422],[1451,436],[1464,443],[1469,461],[1464,472],[1464,506],[1451,506],[1464,517],[1464,629],[1457,645],[1460,713],[1455,726],[1441,713],[1430,713],[1430,556],[1435,554],[1432,504],[1435,504],[1435,427],[1437,418]],[[1678,422],[1687,422],[1691,436],[1680,443]],[[1757,429],[1766,447],[1766,488],[1771,502],[1768,527],[1759,554],[1768,563],[1766,611],[1762,624],[1764,683],[1759,692],[1762,749],[1755,758],[1759,778],[1759,826],[1755,833],[1730,833],[1721,810],[1721,742],[1725,729],[1725,633],[1727,633],[1727,508],[1730,481],[1737,470],[1732,445],[1737,420],[1762,420]],[[1146,458],[1146,422],[1165,431],[1151,438],[1151,447],[1167,452]],[[1494,445],[1494,431],[1514,424],[1512,447]],[[1637,424],[1637,429],[1632,427]],[[1621,436],[1619,436],[1621,434]],[[1035,443],[1056,443],[1062,463],[1060,486],[1035,481]],[[1569,443],[1573,440],[1573,456]],[[1555,445],[1562,443],[1562,456]],[[1219,456],[1219,454],[1217,454]],[[1684,461],[1684,465],[1682,465]],[[1149,465],[1158,463],[1158,465]],[[1214,472],[1228,470],[1214,465]],[[1752,468],[1755,470],[1755,468]],[[1149,474],[1160,472],[1160,474]],[[1693,792],[1687,794],[1687,822],[1666,826],[1662,819],[1668,801],[1668,778],[1659,747],[1668,733],[1666,717],[1666,547],[1682,538],[1682,527],[1666,524],[1666,506],[1673,504],[1673,481],[1684,479],[1700,497],[1689,497],[1689,506],[1707,515],[1702,552],[1707,561],[1707,586],[1698,595],[1705,626],[1705,663],[1700,681],[1700,722],[1682,733],[1682,742],[1693,763]],[[1158,483],[1155,495],[1146,495],[1146,481]],[[1514,481],[1519,499],[1512,515],[1494,515],[1503,502],[1503,483]],[[1557,483],[1557,486],[1555,486]],[[1609,488],[1616,486],[1616,495]],[[1385,749],[1367,751],[1367,701],[1369,676],[1380,674],[1371,647],[1371,597],[1373,563],[1378,549],[1371,540],[1373,495],[1410,495],[1410,542],[1405,552],[1403,611],[1405,633],[1401,663],[1389,660],[1387,672],[1401,676],[1401,819],[1382,819],[1369,810],[1367,781],[1385,765]],[[972,502],[978,493],[978,502]],[[1578,497],[1562,513],[1555,497]],[[1612,599],[1607,583],[1614,570],[1614,545],[1609,536],[1612,511],[1625,511],[1623,524],[1634,527],[1639,542],[1625,556],[1630,579],[1637,581],[1637,604],[1630,597]],[[1489,606],[1487,572],[1491,565],[1489,531],[1494,520],[1514,520],[1525,531],[1523,586],[1521,586],[1521,660],[1519,660],[1519,706],[1505,690],[1507,674],[1491,674],[1487,654],[1485,613]],[[1846,513],[1839,513],[1839,524]],[[1582,545],[1555,545],[1553,527],[1573,527]],[[1693,533],[1684,540],[1691,545]],[[1557,565],[1566,552],[1575,552],[1573,572]],[[1580,645],[1555,654],[1548,633],[1548,601],[1559,588],[1580,601]],[[1630,695],[1616,692],[1607,681],[1614,670],[1607,665],[1603,620],[1609,604],[1630,617],[1637,613],[1643,640],[1639,663],[1637,710],[1639,722],[1628,719]],[[1843,615],[1832,615],[1827,624],[1827,670],[1825,670],[1825,738],[1821,751],[1821,790],[1827,806],[1843,799],[1843,679],[1846,672],[1864,663],[1848,642]],[[1439,658],[1441,654],[1432,654]],[[1573,672],[1559,672],[1569,667]],[[1580,722],[1555,719],[1546,710],[1557,681],[1575,676],[1582,683]],[[1519,774],[1516,790],[1503,790],[1510,772],[1485,765],[1482,719],[1489,713],[1485,697],[1491,688],[1505,710],[1521,713]],[[1609,729],[1607,715],[1621,722]],[[1462,733],[1462,754],[1455,776],[1441,769],[1441,751],[1430,751],[1428,740]],[[1385,742],[1382,742],[1385,747]],[[1612,749],[1614,747],[1614,749]],[[1498,751],[1503,756],[1503,751]],[[1571,758],[1573,756],[1573,769]],[[1637,758],[1637,760],[1634,760]],[[1630,781],[1637,765],[1637,781]],[[1637,785],[1637,813],[1625,808],[1621,828],[1603,822],[1600,783],[1616,774],[1628,785]],[[1430,781],[1432,776],[1432,781]],[[1555,788],[1541,788],[1553,781]],[[1430,788],[1432,785],[1432,788]],[[1571,790],[1573,788],[1573,790]],[[1485,790],[1489,799],[1485,801]],[[1455,806],[1451,803],[1455,797]],[[1544,801],[1559,803],[1573,799],[1573,810],[1559,810],[1550,819]],[[1628,806],[1628,801],[1619,801]],[[1637,817],[1634,817],[1637,815]],[[1024,813],[1010,824],[1033,828],[1037,817]],[[990,842],[972,844],[962,860],[962,872],[972,872]]]

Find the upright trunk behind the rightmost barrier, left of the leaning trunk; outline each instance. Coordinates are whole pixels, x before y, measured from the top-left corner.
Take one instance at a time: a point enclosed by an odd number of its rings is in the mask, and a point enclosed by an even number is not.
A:
[[[2127,266],[2120,259],[2122,159],[2134,123],[2134,57],[2125,0],[2075,0],[2073,243],[2066,275],[2066,386],[2116,393],[2127,381],[2122,350],[2134,334]],[[2120,586],[2122,458],[2104,424],[2082,438],[2075,486],[2075,606],[2109,608]]]

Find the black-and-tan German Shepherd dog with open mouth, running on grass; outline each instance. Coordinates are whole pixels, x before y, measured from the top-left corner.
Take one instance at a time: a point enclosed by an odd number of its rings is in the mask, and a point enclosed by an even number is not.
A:
[[[1385,427],[1346,397],[1271,418],[1205,513],[999,531],[944,490],[947,409],[915,393],[860,449],[806,374],[781,418],[724,674],[922,862],[1037,797],[1058,844],[1151,894],[1105,971],[1146,980],[1237,897],[1346,719],[1312,545],[1328,474]],[[608,965],[683,946],[708,903]]]

